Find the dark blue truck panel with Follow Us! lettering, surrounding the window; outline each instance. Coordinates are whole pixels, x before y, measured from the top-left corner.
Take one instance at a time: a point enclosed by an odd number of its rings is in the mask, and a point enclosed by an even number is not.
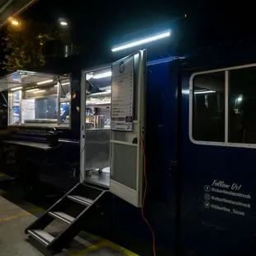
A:
[[[196,62],[198,67],[200,59]],[[235,64],[241,59],[225,59],[222,67]],[[256,149],[196,145],[188,136],[190,75],[215,68],[211,64],[183,73],[183,246],[198,255],[253,255]]]

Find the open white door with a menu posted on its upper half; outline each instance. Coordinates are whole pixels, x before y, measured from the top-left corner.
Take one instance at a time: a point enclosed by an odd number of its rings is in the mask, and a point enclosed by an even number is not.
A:
[[[146,50],[111,66],[110,191],[140,207],[143,190]]]

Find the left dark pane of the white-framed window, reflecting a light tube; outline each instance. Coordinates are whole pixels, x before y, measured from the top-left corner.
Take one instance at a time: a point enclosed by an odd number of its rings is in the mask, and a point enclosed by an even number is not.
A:
[[[200,74],[193,79],[192,137],[225,141],[225,72]]]

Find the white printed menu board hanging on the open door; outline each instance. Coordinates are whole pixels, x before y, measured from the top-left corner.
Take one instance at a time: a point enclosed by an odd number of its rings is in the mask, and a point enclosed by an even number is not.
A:
[[[134,101],[133,56],[112,65],[111,130],[132,131]]]

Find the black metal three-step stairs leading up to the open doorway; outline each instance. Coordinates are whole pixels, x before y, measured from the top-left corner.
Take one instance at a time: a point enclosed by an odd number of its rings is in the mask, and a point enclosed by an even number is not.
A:
[[[29,225],[25,232],[51,252],[59,252],[83,230],[87,220],[92,218],[110,197],[111,193],[107,190],[78,183],[45,211],[43,216]],[[77,209],[73,204],[78,205]],[[67,227],[57,236],[45,231],[45,228],[55,219],[67,224]]]

